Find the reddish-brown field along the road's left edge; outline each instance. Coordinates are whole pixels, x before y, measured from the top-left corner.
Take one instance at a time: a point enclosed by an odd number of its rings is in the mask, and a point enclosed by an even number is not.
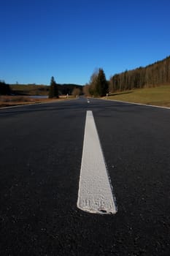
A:
[[[73,99],[73,97],[69,97],[69,99]],[[65,97],[60,97],[59,99],[48,99],[48,98],[38,98],[33,99],[26,96],[0,96],[0,108],[4,107],[12,107],[16,105],[28,105],[28,104],[35,104],[35,103],[42,103],[42,102],[59,102],[67,100]]]

